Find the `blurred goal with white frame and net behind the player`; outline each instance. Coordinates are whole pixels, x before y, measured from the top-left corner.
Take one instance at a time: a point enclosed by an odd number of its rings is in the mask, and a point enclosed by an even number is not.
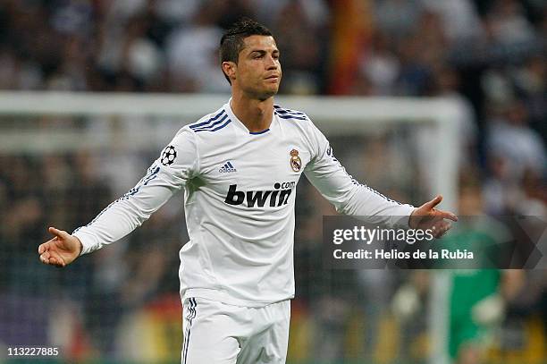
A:
[[[46,346],[59,348],[60,361],[180,360],[177,252],[188,241],[182,194],[122,241],[70,267],[41,265],[37,249],[50,238],[47,226],[72,232],[87,224],[139,181],[181,126],[227,98],[0,92],[0,352]],[[454,209],[459,125],[467,115],[458,101],[276,103],[307,113],[358,181],[413,204],[442,193],[442,207]],[[446,360],[446,277],[323,267],[322,216],[333,214],[302,178],[288,362]],[[400,320],[393,297],[410,279],[423,279],[426,289],[414,316]]]

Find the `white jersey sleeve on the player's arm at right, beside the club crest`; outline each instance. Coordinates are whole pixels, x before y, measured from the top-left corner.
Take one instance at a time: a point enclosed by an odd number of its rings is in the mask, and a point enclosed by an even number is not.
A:
[[[344,215],[365,216],[373,224],[408,227],[414,207],[388,199],[376,190],[356,181],[334,157],[323,133],[310,122],[312,157],[305,174],[336,211]]]

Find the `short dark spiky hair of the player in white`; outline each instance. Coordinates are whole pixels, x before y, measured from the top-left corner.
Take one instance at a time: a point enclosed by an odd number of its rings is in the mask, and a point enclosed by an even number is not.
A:
[[[244,42],[243,39],[250,36],[272,36],[272,32],[268,30],[264,25],[253,21],[248,18],[241,18],[239,21],[235,22],[229,30],[221,38],[219,55],[221,67],[223,62],[233,62],[238,63],[238,57],[240,55],[241,49],[243,49]],[[224,73],[224,71],[223,71]],[[231,80],[224,73],[224,77],[231,84]]]

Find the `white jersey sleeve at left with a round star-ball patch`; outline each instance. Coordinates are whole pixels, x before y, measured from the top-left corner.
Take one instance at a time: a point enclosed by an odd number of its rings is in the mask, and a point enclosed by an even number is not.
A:
[[[162,207],[173,193],[197,174],[198,148],[193,131],[181,129],[164,148],[147,174],[93,221],[72,233],[83,245],[81,254],[122,239]]]

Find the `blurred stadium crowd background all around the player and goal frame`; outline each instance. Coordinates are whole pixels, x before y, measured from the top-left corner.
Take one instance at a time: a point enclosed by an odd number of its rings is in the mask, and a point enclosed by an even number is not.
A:
[[[461,185],[482,196],[489,214],[545,216],[546,12],[540,0],[3,0],[0,89],[227,93],[215,48],[223,29],[247,15],[277,39],[283,95],[467,103]],[[3,115],[0,131],[112,127],[169,135],[146,120],[103,122]],[[424,201],[425,171],[400,152],[401,140],[335,137],[332,145],[359,180],[397,199]],[[72,267],[44,267],[36,254],[49,224],[67,231],[86,224],[137,182],[158,152],[0,155],[0,360],[8,346],[55,343],[63,343],[61,361],[178,360],[176,252],[186,232],[176,203]],[[318,266],[318,222],[332,213],[300,183],[290,363],[427,362],[435,273]],[[487,362],[545,362],[546,284],[544,271],[526,272]],[[422,304],[401,323],[392,302],[408,285]]]

